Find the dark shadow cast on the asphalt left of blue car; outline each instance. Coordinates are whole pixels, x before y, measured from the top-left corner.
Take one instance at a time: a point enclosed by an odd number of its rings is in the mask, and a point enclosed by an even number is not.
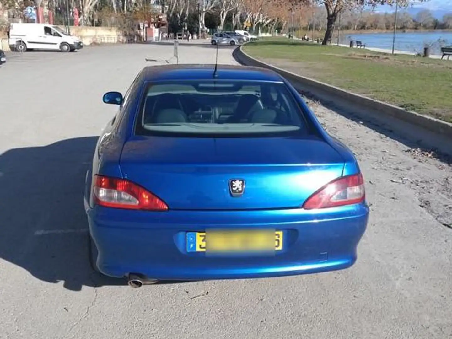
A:
[[[78,137],[0,155],[0,258],[72,291],[127,286],[125,279],[101,276],[89,264],[83,194],[97,139]]]

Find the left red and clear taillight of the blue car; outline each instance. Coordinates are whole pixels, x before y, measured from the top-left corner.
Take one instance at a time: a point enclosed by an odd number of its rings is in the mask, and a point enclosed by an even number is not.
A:
[[[95,202],[104,207],[134,210],[166,211],[168,206],[160,198],[127,179],[94,176]]]

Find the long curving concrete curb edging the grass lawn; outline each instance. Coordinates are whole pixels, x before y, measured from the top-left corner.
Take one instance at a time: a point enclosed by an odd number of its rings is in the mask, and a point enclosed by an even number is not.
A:
[[[370,111],[378,112],[381,116],[379,117],[380,119],[395,118],[405,123],[409,123],[415,127],[420,127],[423,130],[427,130],[428,132],[433,132],[436,135],[444,137],[444,142],[450,142],[452,145],[452,123],[424,116],[416,112],[407,111],[391,104],[370,99],[363,95],[351,93],[344,89],[283,70],[263,61],[259,61],[246,54],[242,50],[243,46],[245,45],[237,47],[234,51],[235,59],[243,65],[268,68],[284,76],[298,90],[301,89],[313,94],[316,97],[327,98],[329,100],[332,100],[333,98],[347,100],[350,104],[359,105],[361,108],[364,108],[360,109],[358,114],[365,115],[365,118],[375,118],[375,115],[372,115],[372,117],[370,116],[370,112],[366,113],[366,110],[369,109]]]

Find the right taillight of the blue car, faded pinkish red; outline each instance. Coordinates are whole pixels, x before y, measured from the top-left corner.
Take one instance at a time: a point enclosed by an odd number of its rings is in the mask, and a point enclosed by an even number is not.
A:
[[[334,179],[311,195],[303,204],[306,210],[356,204],[366,198],[361,173]]]

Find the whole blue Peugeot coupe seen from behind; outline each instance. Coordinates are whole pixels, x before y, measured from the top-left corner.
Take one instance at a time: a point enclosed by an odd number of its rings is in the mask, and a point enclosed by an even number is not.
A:
[[[119,109],[84,199],[99,273],[140,287],[355,263],[369,214],[363,175],[281,75],[150,66],[103,101]]]

